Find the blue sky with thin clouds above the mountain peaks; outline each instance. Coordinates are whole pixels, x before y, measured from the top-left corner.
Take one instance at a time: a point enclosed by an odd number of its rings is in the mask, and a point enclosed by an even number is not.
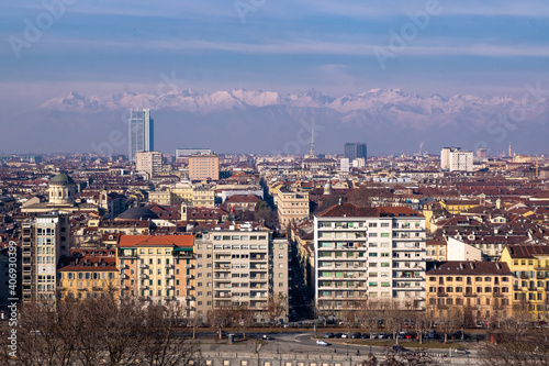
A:
[[[48,24],[52,3],[65,9]],[[244,22],[237,5],[249,10]],[[414,25],[410,13],[429,7],[426,26]],[[26,24],[38,21],[42,34],[29,40]],[[413,33],[381,67],[374,49],[391,51],[391,34],[403,30]],[[548,89],[548,35],[544,0],[4,0],[0,107],[35,107],[72,89],[155,92],[172,73],[178,87],[202,91],[520,96],[526,84]],[[13,40],[24,41],[20,57]]]

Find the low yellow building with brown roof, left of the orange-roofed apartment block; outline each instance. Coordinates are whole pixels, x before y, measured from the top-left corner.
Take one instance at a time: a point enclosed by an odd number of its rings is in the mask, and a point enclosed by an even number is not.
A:
[[[117,296],[117,281],[115,249],[71,249],[57,270],[60,298],[99,298],[110,292]]]

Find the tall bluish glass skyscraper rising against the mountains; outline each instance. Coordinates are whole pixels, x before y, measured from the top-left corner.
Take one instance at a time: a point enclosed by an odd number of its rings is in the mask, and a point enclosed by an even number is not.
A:
[[[131,111],[128,122],[128,158],[135,162],[135,153],[155,149],[155,121],[150,118],[150,110],[144,109],[142,111]]]

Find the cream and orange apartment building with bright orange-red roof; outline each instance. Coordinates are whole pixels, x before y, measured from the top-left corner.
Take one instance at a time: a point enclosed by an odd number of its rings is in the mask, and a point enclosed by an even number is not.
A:
[[[116,267],[120,296],[178,304],[194,314],[194,236],[121,235]]]

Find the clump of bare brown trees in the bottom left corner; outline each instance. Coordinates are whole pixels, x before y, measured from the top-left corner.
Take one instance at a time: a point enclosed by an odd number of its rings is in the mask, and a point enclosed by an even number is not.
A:
[[[160,304],[108,293],[19,310],[18,359],[0,353],[2,365],[200,365],[198,345],[176,336],[172,314]]]

